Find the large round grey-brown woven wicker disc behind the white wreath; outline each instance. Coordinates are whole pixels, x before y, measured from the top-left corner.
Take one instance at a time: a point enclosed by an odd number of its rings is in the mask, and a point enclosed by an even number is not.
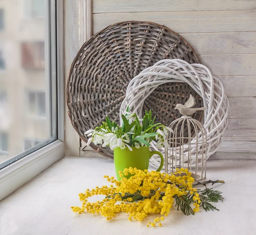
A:
[[[99,126],[105,117],[119,122],[120,105],[126,87],[134,76],[163,59],[182,59],[200,63],[192,47],[177,33],[151,22],[116,23],[93,35],[79,50],[67,81],[68,115],[80,138]],[[143,108],[152,110],[157,122],[169,125],[180,113],[175,104],[184,104],[189,95],[202,107],[202,99],[185,83],[166,83],[145,101]],[[202,113],[193,118],[201,120]],[[91,147],[105,157],[113,151],[100,145]]]

